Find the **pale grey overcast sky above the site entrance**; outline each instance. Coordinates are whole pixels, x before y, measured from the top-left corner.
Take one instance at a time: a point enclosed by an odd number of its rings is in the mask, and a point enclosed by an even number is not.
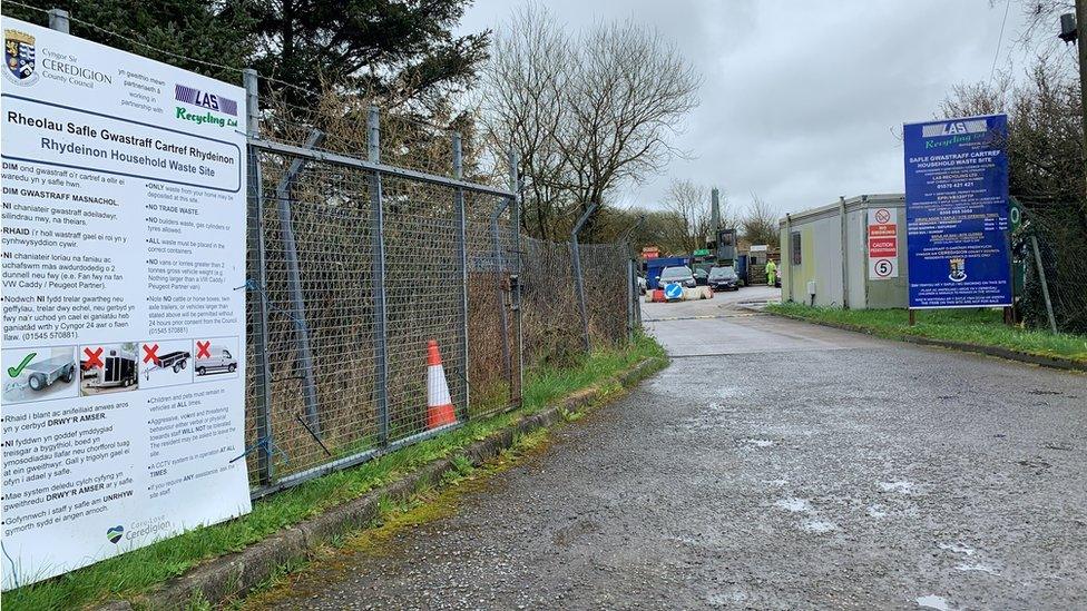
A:
[[[625,189],[625,205],[658,203],[675,177],[721,187],[733,210],[755,191],[782,214],[840,195],[901,193],[894,134],[932,118],[953,85],[989,78],[1005,16],[1005,2],[989,0],[545,3],[571,28],[633,16],[704,76],[702,104],[678,137],[693,158]],[[498,28],[512,6],[476,0],[462,30]],[[1012,2],[998,69],[1021,72],[1022,24]]]

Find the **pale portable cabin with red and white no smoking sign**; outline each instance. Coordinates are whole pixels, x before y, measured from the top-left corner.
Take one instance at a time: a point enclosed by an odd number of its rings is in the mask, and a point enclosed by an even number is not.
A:
[[[782,300],[907,307],[905,196],[861,195],[781,219]]]

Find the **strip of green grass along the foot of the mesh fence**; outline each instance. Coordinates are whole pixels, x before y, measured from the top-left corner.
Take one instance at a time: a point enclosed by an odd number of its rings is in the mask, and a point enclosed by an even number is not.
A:
[[[653,357],[665,358],[664,349],[652,338],[639,336],[631,346],[595,352],[575,366],[529,372],[522,406],[518,410],[471,421],[439,437],[259,500],[253,504],[251,513],[238,519],[195,529],[65,575],[4,592],[2,607],[4,610],[59,610],[133,598],[203,561],[239,551],[286,526],[447,457],[575,391],[597,385],[639,361]]]

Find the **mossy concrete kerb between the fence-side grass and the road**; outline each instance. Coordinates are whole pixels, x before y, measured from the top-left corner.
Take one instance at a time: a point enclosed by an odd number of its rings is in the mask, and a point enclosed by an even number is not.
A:
[[[445,473],[456,471],[457,456],[467,457],[473,465],[498,456],[522,435],[551,426],[570,412],[586,410],[598,401],[611,398],[607,392],[616,382],[624,388],[634,386],[662,369],[665,358],[647,358],[597,386],[578,391],[557,405],[525,416],[487,438],[464,447],[453,456],[429,463],[404,477],[371,491],[354,501],[333,507],[281,532],[261,540],[239,552],[209,560],[199,566],[129,601],[110,601],[99,611],[143,609],[188,609],[200,601],[213,605],[244,597],[284,566],[305,561],[317,545],[333,538],[369,528],[380,515],[380,502],[409,501],[418,491],[441,483]]]

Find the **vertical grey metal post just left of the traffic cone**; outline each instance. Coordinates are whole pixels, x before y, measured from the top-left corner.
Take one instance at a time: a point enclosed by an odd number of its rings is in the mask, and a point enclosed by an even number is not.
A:
[[[378,107],[370,107],[366,129],[370,161],[381,161],[381,127],[378,119]],[[389,346],[386,328],[389,325],[385,312],[385,217],[381,200],[381,173],[373,170],[370,178],[370,200],[373,205],[373,274],[375,295],[374,325],[374,359],[378,369],[374,382],[375,404],[378,408],[378,438],[382,446],[389,445]]]

